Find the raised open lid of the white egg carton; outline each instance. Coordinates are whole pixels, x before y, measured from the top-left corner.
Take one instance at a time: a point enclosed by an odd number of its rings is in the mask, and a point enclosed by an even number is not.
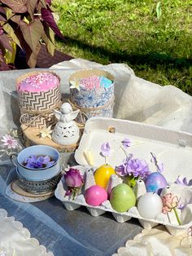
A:
[[[120,166],[126,158],[121,143],[125,138],[131,141],[126,153],[132,153],[134,158],[144,159],[151,171],[156,171],[151,162],[151,152],[155,154],[157,161],[164,164],[163,174],[168,182],[174,183],[180,175],[191,179],[192,134],[137,121],[89,118],[75,152],[76,162],[81,166],[89,166],[89,152],[92,166],[102,166],[105,159],[100,154],[101,145],[109,143],[111,154],[107,157],[107,163],[114,168]]]

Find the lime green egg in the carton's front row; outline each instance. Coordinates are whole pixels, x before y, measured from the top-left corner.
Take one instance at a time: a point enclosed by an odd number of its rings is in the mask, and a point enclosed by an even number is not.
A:
[[[136,196],[129,185],[121,183],[112,189],[110,202],[112,208],[121,213],[135,205]]]

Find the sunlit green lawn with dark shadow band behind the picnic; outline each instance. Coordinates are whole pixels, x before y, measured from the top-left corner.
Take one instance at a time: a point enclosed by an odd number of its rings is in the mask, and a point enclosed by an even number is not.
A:
[[[101,64],[124,63],[138,77],[192,95],[192,0],[54,0],[66,42],[60,51]]]

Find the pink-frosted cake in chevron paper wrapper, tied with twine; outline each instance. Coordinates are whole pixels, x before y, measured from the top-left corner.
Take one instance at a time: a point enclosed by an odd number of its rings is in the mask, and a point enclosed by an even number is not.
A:
[[[59,85],[59,77],[49,71],[27,73],[17,79],[22,124],[33,128],[54,124],[52,110],[61,103]]]

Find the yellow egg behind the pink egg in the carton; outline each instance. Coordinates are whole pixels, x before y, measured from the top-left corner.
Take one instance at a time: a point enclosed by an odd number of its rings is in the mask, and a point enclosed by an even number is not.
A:
[[[94,172],[95,183],[103,188],[107,187],[107,183],[111,178],[111,174],[116,174],[115,170],[109,165],[100,166]]]

